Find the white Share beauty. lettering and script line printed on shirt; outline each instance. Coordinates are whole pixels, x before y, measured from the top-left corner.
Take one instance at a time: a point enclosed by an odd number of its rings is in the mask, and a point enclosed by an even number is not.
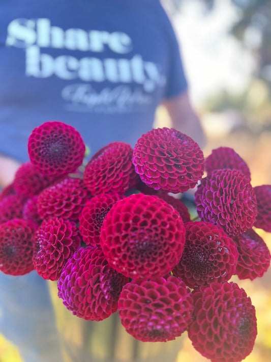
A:
[[[6,46],[25,51],[26,77],[69,81],[62,91],[69,110],[131,112],[152,104],[154,93],[165,84],[159,65],[134,53],[132,39],[123,32],[64,30],[46,18],[18,18],[9,23],[7,33]],[[53,57],[42,48],[66,49],[66,54]],[[95,56],[78,59],[73,50]],[[108,50],[110,58],[103,54]]]

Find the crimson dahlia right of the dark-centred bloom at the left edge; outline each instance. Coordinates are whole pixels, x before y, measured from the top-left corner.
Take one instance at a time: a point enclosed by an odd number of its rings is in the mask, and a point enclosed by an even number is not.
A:
[[[34,238],[34,267],[43,279],[56,281],[79,246],[75,222],[57,217],[44,220]]]

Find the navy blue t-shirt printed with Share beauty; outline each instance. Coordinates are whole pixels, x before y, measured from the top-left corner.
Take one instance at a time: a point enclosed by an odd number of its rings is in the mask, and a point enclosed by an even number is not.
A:
[[[132,146],[155,110],[187,88],[159,0],[2,0],[0,153],[26,161],[27,138],[57,120],[92,154]]]

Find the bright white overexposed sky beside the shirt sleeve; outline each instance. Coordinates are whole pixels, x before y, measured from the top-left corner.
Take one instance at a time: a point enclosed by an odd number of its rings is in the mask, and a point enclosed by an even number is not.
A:
[[[239,15],[230,0],[217,1],[210,12],[197,0],[189,0],[172,14],[195,106],[202,106],[218,90],[239,93],[247,86],[255,60],[229,34]]]

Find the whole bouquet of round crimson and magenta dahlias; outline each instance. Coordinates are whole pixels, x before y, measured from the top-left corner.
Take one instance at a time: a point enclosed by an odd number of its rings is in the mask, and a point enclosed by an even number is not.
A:
[[[253,227],[271,232],[271,185],[252,187],[233,149],[204,159],[192,138],[164,127],[134,149],[111,143],[82,166],[81,135],[55,121],[33,130],[28,154],[0,194],[1,271],[35,269],[58,281],[58,297],[85,320],[118,310],[139,341],[187,330],[213,362],[251,353],[255,308],[229,280],[254,280],[269,267]],[[182,194],[196,186],[191,220]]]

